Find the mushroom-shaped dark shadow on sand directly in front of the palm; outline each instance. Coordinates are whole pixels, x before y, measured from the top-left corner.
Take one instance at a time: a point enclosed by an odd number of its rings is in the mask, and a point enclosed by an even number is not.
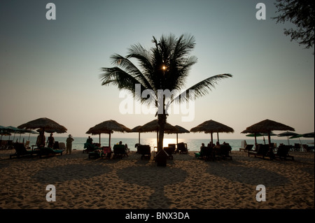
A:
[[[117,175],[129,184],[154,189],[148,198],[147,208],[168,209],[172,201],[165,196],[165,186],[185,181],[188,173],[181,168],[133,166],[120,169]]]

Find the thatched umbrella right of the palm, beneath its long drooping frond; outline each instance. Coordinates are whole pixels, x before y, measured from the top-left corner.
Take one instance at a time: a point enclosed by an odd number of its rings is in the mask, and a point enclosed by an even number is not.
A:
[[[197,127],[193,127],[193,129],[190,129],[190,131],[204,132],[205,134],[211,134],[211,143],[214,143],[214,138],[212,136],[214,132],[216,132],[218,136],[219,132],[233,133],[234,129],[220,122],[216,122],[214,120],[208,120],[206,122],[202,122],[202,124],[197,125]],[[218,138],[218,141],[219,141],[219,138]]]

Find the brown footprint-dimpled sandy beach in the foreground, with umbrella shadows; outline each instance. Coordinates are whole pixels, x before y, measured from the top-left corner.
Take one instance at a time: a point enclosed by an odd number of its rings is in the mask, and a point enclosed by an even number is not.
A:
[[[130,153],[123,159],[88,159],[76,150],[55,157],[9,159],[0,151],[3,209],[314,209],[314,152],[291,160],[248,157],[203,161],[174,154],[166,167]],[[54,185],[56,201],[46,201]],[[264,185],[266,201],[256,201]]]

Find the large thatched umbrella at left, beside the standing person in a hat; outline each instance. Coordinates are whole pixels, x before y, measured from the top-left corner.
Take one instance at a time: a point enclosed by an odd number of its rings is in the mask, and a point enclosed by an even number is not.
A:
[[[66,127],[58,124],[57,122],[50,120],[47,117],[40,117],[36,120],[29,121],[25,124],[21,124],[18,126],[19,129],[42,129],[43,132],[57,132],[58,134],[62,134],[66,132]],[[43,141],[42,134],[42,141]],[[45,142],[44,142],[45,143]]]

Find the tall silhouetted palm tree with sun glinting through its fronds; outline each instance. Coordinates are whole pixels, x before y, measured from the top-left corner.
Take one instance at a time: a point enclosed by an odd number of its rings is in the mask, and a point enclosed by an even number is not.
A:
[[[162,112],[157,112],[158,123],[160,124],[158,150],[162,150],[165,123],[167,122],[167,107],[176,99],[190,100],[204,96],[214,88],[218,80],[232,77],[229,73],[214,75],[210,78],[198,82],[189,87],[183,94],[179,94],[174,99],[169,100],[163,96],[163,100],[158,100],[158,90],[169,89],[169,91],[182,91],[188,77],[188,71],[197,62],[197,58],[190,56],[190,52],[195,48],[194,36],[181,35],[176,38],[174,35],[162,36],[157,41],[153,36],[155,46],[151,50],[146,50],[142,45],[136,44],[129,48],[128,55],[123,57],[118,54],[111,56],[113,67],[102,68],[102,85],[117,85],[118,89],[127,89],[132,92],[134,99],[141,103],[152,102],[155,107],[162,108]],[[139,62],[139,68],[130,59]],[[136,85],[141,87],[141,93],[146,89],[152,90],[155,95],[141,97],[136,94]],[[193,91],[192,91],[193,90]],[[192,93],[193,92],[193,93]],[[148,100],[150,99],[151,100]]]

